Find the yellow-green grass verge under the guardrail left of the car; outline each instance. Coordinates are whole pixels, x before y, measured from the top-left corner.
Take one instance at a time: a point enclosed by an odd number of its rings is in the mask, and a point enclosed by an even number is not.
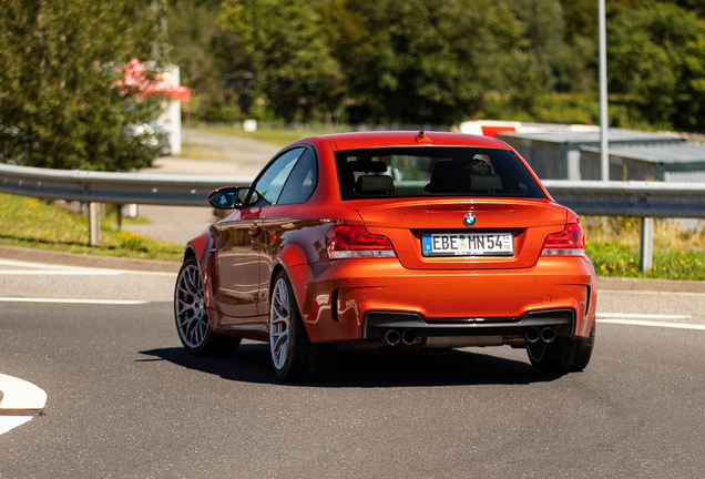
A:
[[[156,241],[101,222],[101,245],[89,245],[88,218],[53,202],[0,193],[0,245],[130,258],[181,261],[183,246]]]

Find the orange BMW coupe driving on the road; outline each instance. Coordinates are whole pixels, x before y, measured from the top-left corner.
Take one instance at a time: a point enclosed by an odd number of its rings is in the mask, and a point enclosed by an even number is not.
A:
[[[186,246],[174,313],[192,354],[268,342],[282,380],[326,377],[354,343],[509,345],[543,373],[590,361],[596,283],[578,215],[502,141],[304,137],[208,201],[234,211]]]

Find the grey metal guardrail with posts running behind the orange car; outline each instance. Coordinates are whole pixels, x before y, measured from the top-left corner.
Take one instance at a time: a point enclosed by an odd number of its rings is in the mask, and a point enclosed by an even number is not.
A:
[[[247,186],[252,180],[245,176],[105,173],[0,164],[1,192],[80,201],[95,206],[100,203],[207,206],[206,196],[211,191],[224,185]],[[652,266],[653,217],[705,218],[705,183],[548,180],[543,184],[555,201],[578,214],[644,218],[642,269]],[[91,244],[100,242],[96,211],[90,214]],[[94,238],[98,241],[94,242]]]

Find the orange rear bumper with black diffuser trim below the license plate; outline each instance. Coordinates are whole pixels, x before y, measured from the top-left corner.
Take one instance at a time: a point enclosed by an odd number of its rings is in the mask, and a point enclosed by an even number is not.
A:
[[[433,337],[523,336],[551,326],[558,336],[585,338],[596,303],[594,269],[581,256],[442,272],[406,269],[396,258],[341,259],[295,266],[289,275],[314,343],[378,339],[391,327]]]

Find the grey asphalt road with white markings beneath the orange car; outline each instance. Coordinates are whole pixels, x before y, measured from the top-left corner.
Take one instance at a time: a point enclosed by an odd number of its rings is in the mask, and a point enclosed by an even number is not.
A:
[[[705,470],[704,293],[601,291],[596,349],[580,374],[537,374],[509,347],[341,350],[330,381],[283,385],[266,345],[188,356],[174,279],[0,258],[0,374],[48,395],[43,416],[0,435],[2,479]],[[605,323],[634,318],[665,325]]]

